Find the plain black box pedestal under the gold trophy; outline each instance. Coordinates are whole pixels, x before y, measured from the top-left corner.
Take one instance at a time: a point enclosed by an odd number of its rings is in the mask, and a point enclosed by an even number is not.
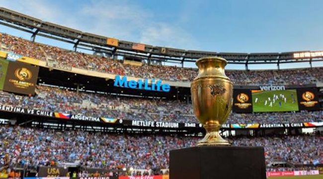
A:
[[[169,179],[266,179],[264,149],[203,146],[172,150]]]

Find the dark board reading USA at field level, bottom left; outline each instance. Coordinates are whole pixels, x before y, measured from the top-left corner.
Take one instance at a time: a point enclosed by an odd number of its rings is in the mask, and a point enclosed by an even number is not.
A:
[[[68,168],[63,167],[39,167],[38,169],[38,176],[42,177],[42,179],[51,179],[50,177],[66,177],[67,173]]]

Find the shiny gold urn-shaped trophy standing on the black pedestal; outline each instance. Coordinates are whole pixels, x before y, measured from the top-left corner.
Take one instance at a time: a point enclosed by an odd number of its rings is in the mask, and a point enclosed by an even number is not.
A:
[[[219,57],[205,57],[196,61],[198,75],[191,83],[194,114],[206,129],[205,137],[198,146],[230,145],[220,133],[232,108],[233,83],[226,76],[227,60]]]

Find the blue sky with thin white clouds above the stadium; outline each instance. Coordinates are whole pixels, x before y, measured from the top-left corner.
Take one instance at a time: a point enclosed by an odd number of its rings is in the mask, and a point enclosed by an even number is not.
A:
[[[323,0],[1,0],[0,6],[154,46],[242,53],[323,50]],[[0,31],[29,39],[4,26]]]

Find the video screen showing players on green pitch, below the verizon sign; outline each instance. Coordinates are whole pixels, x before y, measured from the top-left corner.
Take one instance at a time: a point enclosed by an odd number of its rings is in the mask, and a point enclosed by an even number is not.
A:
[[[252,109],[253,112],[298,111],[296,90],[253,92]]]

